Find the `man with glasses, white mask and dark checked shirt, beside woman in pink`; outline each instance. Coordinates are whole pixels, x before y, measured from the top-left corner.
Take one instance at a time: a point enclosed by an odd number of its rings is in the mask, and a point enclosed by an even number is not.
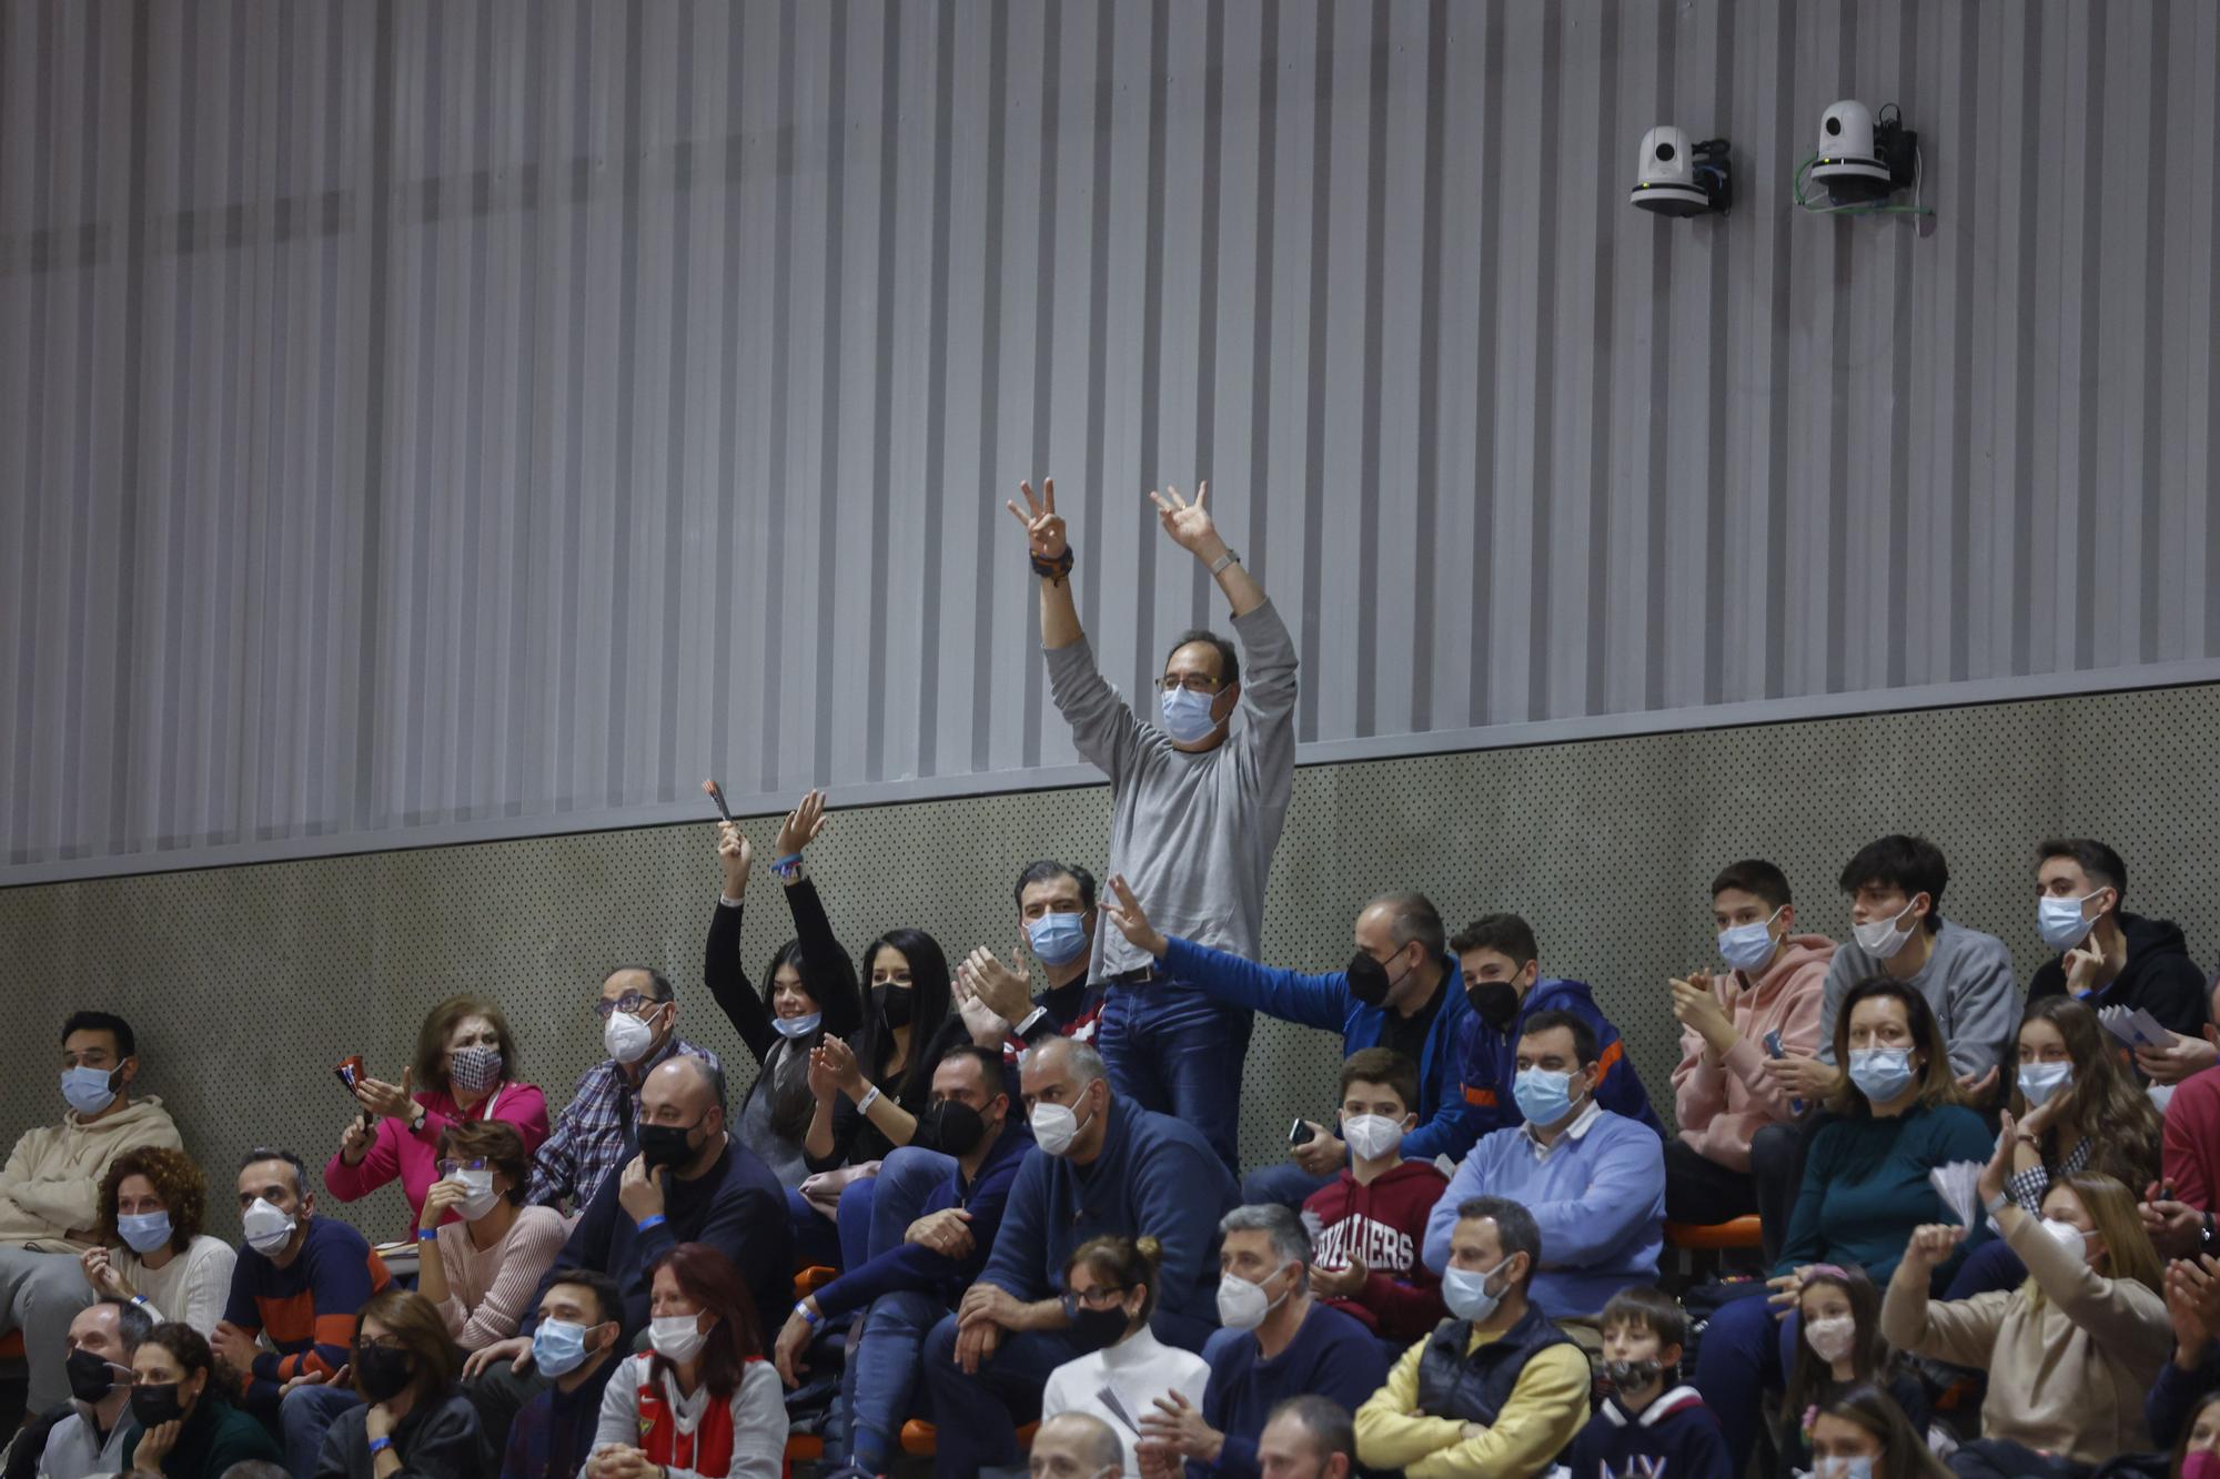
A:
[[[608,1057],[577,1081],[577,1093],[533,1157],[524,1199],[535,1206],[586,1206],[608,1173],[639,1150],[633,1137],[639,1086],[653,1068],[682,1055],[719,1066],[715,1053],[677,1035],[677,993],[659,970],[617,966],[602,982],[593,1010],[599,1013]]]

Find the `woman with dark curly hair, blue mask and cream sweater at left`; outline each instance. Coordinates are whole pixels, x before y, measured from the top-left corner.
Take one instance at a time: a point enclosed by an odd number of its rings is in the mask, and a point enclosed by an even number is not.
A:
[[[127,1150],[100,1179],[100,1246],[80,1259],[100,1299],[124,1299],[147,1319],[215,1335],[238,1250],[209,1237],[209,1181],[184,1150]]]

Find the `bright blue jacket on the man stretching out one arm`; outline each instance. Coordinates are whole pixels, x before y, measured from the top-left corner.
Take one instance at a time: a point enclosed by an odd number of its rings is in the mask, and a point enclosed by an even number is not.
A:
[[[1403,1137],[1403,1159],[1407,1161],[1430,1161],[1436,1155],[1447,1155],[1452,1161],[1463,1159],[1483,1130],[1481,1115],[1465,1095],[1459,1050],[1472,1004],[1465,999],[1465,979],[1456,968],[1456,957],[1443,955],[1441,964],[1441,1008],[1434,1013],[1434,1026],[1425,1033],[1425,1053],[1419,1062],[1419,1104],[1412,1106],[1419,1110],[1419,1128]],[[1339,1030],[1341,1057],[1379,1046],[1381,1026],[1388,1022],[1388,1008],[1365,1006],[1350,995],[1348,970],[1303,975],[1172,939],[1163,955],[1163,973],[1192,982],[1203,995],[1219,1002],[1248,1006],[1281,1022],[1299,1022],[1328,1033]]]

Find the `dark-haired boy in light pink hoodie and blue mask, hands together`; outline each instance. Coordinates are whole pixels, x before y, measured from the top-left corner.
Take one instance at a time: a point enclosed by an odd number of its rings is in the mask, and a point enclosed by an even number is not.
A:
[[[1692,970],[1672,984],[1683,1053],[1672,1075],[1681,1139],[1665,1144],[1665,1217],[1709,1224],[1758,1213],[1772,1261],[1789,1206],[1763,1204],[1758,1186],[1767,1177],[1752,1177],[1749,1141],[1794,1119],[1800,1106],[1772,1081],[1765,1059],[1818,1050],[1834,942],[1796,933],[1789,879],[1763,859],[1732,864],[1712,882],[1712,919],[1727,970]],[[1794,1204],[1794,1179],[1774,1181],[1787,1181]]]

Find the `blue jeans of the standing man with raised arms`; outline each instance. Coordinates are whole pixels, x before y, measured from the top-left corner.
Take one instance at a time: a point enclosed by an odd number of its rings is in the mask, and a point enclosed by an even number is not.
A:
[[[1241,1175],[1241,1066],[1248,1008],[1219,1006],[1172,979],[1112,984],[1094,1046],[1110,1088],[1159,1115],[1179,1115]]]

